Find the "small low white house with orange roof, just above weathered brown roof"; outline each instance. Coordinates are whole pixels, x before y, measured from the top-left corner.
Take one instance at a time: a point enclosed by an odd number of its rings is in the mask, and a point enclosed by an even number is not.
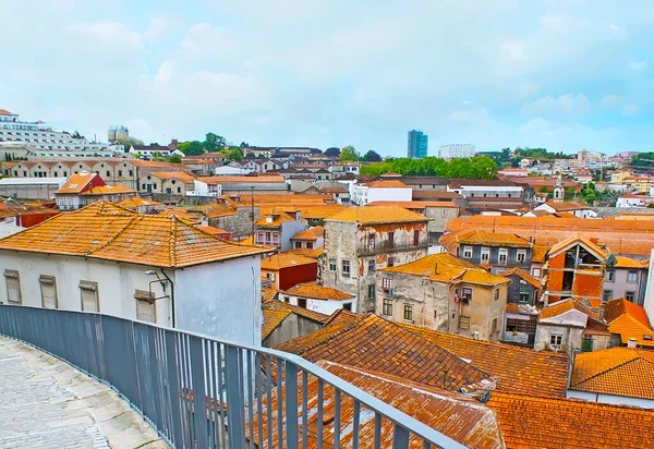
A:
[[[288,304],[326,315],[331,315],[341,308],[346,311],[356,310],[354,295],[331,287],[318,286],[315,282],[299,283],[287,291],[280,292],[278,299]]]

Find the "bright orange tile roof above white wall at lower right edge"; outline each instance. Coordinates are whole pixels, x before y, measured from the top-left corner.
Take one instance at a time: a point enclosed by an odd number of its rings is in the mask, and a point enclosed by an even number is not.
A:
[[[574,357],[570,389],[654,400],[654,351],[610,348]]]

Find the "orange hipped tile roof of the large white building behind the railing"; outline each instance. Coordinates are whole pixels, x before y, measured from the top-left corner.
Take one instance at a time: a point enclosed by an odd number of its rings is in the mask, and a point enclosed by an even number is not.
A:
[[[0,241],[0,250],[62,254],[182,268],[263,254],[219,240],[174,217],[147,216],[97,202]]]

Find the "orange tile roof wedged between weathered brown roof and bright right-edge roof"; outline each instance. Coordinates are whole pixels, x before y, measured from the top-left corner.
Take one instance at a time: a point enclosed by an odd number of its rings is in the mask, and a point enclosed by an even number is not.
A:
[[[567,354],[474,340],[412,325],[402,327],[420,335],[429,343],[469,360],[473,366],[492,375],[497,380],[495,391],[548,398],[566,397],[569,363]]]

